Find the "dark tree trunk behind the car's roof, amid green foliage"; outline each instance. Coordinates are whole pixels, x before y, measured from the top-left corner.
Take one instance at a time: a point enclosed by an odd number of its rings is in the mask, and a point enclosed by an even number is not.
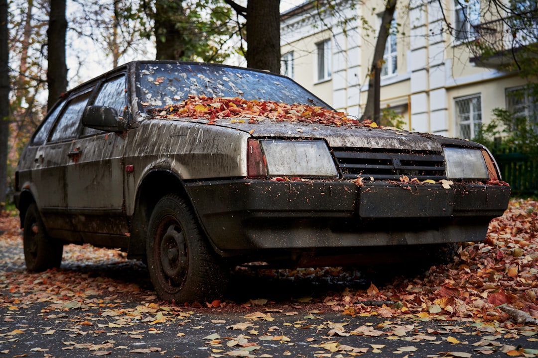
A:
[[[154,33],[157,60],[180,60],[183,48],[182,28],[186,24],[181,0],[157,0],[155,2]]]

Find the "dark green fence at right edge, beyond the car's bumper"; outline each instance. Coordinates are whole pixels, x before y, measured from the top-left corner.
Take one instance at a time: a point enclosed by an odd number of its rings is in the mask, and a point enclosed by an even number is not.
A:
[[[538,158],[513,150],[494,151],[493,156],[512,195],[538,195]]]

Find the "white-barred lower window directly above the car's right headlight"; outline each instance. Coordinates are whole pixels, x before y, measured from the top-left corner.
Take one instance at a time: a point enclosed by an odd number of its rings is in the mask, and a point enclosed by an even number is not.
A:
[[[458,137],[472,139],[482,128],[482,100],[480,94],[456,99]]]

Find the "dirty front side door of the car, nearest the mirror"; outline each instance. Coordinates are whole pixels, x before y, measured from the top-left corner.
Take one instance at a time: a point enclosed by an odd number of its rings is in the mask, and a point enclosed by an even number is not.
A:
[[[128,113],[126,86],[125,74],[107,79],[93,105],[115,108],[123,116]],[[74,229],[84,242],[123,247],[128,232],[123,204],[123,135],[83,127],[73,150],[76,160],[67,166],[67,200]]]

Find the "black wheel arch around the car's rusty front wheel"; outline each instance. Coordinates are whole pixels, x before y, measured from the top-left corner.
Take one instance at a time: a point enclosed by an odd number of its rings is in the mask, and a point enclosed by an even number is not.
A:
[[[153,208],[159,199],[172,193],[185,198],[192,207],[183,180],[172,170],[154,169],[140,181],[131,218],[129,258],[145,260],[147,229]]]

